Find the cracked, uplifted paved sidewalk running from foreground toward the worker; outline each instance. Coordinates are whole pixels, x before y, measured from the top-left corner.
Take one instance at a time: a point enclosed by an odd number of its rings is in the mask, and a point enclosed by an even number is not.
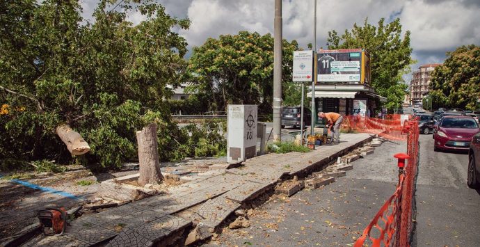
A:
[[[193,221],[205,239],[232,212],[246,206],[280,178],[305,177],[337,157],[370,141],[370,134],[342,134],[342,143],[323,145],[307,153],[266,154],[228,170],[212,170],[167,193],[72,221],[60,237],[38,237],[29,245],[45,246],[154,246],[182,245]],[[200,224],[201,223],[201,224]]]

